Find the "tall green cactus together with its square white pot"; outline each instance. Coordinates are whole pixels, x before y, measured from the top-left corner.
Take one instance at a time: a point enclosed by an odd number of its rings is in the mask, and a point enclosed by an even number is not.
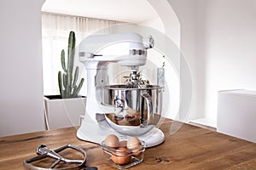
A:
[[[61,67],[58,72],[60,95],[44,96],[45,122],[48,129],[79,126],[79,116],[85,112],[85,97],[79,96],[84,78],[78,83],[79,66],[74,70],[75,33],[70,31],[67,46],[67,61],[61,50]]]

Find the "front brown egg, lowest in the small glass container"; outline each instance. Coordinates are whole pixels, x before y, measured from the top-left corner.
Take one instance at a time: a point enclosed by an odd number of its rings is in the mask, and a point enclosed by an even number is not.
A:
[[[128,149],[125,147],[118,148],[117,151],[113,153],[113,155],[111,155],[112,161],[118,165],[125,165],[127,163],[130,163],[131,154],[127,150]]]

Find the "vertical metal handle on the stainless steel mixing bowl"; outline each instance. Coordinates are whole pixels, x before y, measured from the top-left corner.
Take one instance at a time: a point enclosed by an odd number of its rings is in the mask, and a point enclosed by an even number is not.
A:
[[[153,106],[152,106],[152,97],[149,94],[141,94],[143,97],[142,103],[141,103],[141,127],[148,127],[148,124],[150,121],[153,121]],[[147,119],[144,115],[144,101],[146,101],[147,104]]]

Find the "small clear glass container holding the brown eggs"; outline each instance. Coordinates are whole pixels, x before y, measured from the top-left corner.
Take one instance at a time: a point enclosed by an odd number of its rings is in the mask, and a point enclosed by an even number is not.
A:
[[[141,141],[141,145],[139,145],[135,148],[132,148],[131,150],[128,150],[128,149],[127,150],[116,150],[116,149],[113,149],[113,148],[107,146],[106,144],[104,144],[104,141],[102,141],[101,146],[102,146],[102,150],[103,150],[105,159],[109,164],[111,164],[111,165],[113,165],[113,167],[117,167],[119,169],[125,169],[125,168],[135,166],[143,161],[147,144],[144,141]],[[134,151],[134,150],[136,150],[136,151]],[[116,156],[117,159],[118,158],[130,159],[130,156],[131,156],[131,159],[126,164],[119,164],[119,163],[115,163],[112,160],[112,156]]]

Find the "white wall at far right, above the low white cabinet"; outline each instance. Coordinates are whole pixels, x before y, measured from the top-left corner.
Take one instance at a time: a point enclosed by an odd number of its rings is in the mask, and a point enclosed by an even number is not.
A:
[[[218,91],[256,89],[256,1],[201,0],[206,117],[217,119]]]

